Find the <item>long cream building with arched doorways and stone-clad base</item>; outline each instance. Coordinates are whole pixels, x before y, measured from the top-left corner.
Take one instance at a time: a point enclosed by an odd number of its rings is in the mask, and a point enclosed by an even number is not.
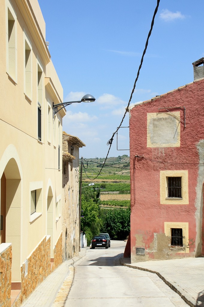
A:
[[[0,45],[0,302],[15,289],[19,306],[62,262],[65,109],[53,117],[63,89],[37,0],[1,1]]]

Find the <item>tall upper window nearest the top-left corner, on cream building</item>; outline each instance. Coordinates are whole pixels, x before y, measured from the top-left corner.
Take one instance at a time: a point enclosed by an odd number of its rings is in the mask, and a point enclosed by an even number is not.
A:
[[[9,1],[7,4],[6,71],[14,81],[17,81],[17,17]]]

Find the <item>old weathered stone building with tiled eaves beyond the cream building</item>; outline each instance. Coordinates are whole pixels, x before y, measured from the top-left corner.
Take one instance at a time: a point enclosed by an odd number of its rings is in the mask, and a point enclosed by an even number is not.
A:
[[[62,254],[67,260],[79,252],[79,148],[86,145],[66,132],[62,139]]]

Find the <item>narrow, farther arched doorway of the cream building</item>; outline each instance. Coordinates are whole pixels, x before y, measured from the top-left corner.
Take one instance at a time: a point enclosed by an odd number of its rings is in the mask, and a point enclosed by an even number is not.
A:
[[[50,235],[50,257],[53,258],[53,193],[51,186],[49,186],[47,196],[47,235]]]

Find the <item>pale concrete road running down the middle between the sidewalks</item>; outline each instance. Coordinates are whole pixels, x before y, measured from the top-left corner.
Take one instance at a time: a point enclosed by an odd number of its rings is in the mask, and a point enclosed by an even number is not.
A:
[[[120,265],[125,243],[87,249],[75,264],[75,277],[65,307],[184,307],[182,298],[156,274]]]

